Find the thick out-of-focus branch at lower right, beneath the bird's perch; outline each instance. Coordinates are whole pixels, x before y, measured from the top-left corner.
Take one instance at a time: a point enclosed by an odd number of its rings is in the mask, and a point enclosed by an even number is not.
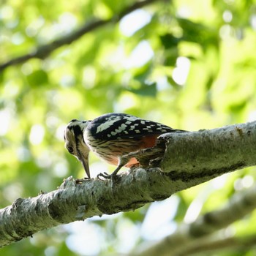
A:
[[[175,233],[148,248],[136,249],[138,256],[176,256],[198,252],[195,247],[210,246],[214,241],[207,237],[249,214],[256,208],[256,186],[234,195],[222,209],[198,217],[189,225],[181,225]],[[205,247],[208,248],[208,246]],[[224,246],[224,244],[222,244]]]

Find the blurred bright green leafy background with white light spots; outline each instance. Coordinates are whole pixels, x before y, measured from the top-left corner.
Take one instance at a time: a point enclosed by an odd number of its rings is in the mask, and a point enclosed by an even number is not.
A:
[[[112,19],[43,59],[0,73],[0,204],[56,189],[84,176],[64,149],[72,118],[124,112],[198,130],[256,117],[255,1],[156,1],[118,21],[134,1],[15,1],[0,6],[0,65],[84,23]],[[1,66],[0,66],[1,67]],[[113,167],[91,155],[93,176]],[[239,170],[134,212],[45,230],[1,249],[3,255],[111,255],[175,232],[181,222],[252,186]],[[225,236],[255,235],[255,213]],[[236,250],[236,255],[252,255]],[[234,255],[232,249],[216,255]]]

